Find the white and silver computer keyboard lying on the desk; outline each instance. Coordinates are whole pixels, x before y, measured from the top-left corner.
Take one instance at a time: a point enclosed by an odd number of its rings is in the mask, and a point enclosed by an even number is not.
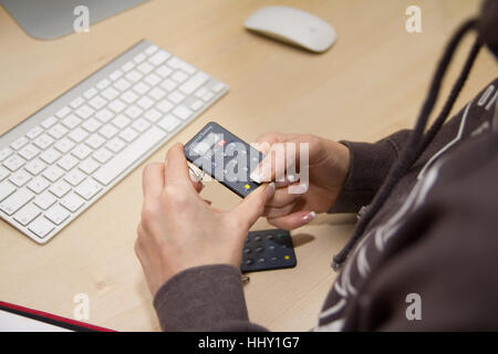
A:
[[[0,217],[45,243],[227,91],[141,41],[0,136]]]

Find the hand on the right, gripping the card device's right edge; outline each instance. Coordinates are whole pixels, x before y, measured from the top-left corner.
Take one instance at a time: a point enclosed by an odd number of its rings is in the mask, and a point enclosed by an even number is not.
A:
[[[310,222],[318,212],[328,212],[334,205],[347,171],[350,169],[349,148],[340,143],[315,135],[266,133],[258,139],[258,147],[266,154],[264,159],[251,174],[259,181],[277,181],[277,191],[264,209],[268,221],[281,229],[292,230]],[[294,180],[289,175],[286,164],[276,164],[274,157],[283,148],[287,154],[288,144],[295,144],[295,170],[301,171],[307,166],[299,166],[300,144],[309,144],[309,178]],[[289,158],[289,157],[288,157]],[[292,162],[291,162],[292,164]],[[279,181],[278,176],[286,178]],[[302,179],[302,178],[301,178]]]

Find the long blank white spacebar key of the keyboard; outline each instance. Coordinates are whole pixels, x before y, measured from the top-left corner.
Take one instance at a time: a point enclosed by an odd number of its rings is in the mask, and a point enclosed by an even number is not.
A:
[[[107,164],[103,165],[93,178],[103,185],[108,185],[114,178],[120,176],[126,168],[151,150],[167,134],[158,127],[152,127],[141,135],[135,142],[129,144],[120,154],[114,156]]]

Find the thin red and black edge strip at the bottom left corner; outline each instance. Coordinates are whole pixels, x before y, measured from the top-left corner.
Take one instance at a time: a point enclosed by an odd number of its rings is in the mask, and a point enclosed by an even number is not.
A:
[[[0,310],[6,310],[7,312],[23,315],[29,319],[38,320],[41,322],[58,325],[58,326],[61,326],[61,327],[64,327],[68,330],[73,330],[73,331],[115,332],[113,330],[101,327],[101,326],[93,325],[90,323],[58,316],[52,313],[38,311],[38,310],[15,305],[13,303],[8,303],[8,302],[3,302],[3,301],[0,301]]]

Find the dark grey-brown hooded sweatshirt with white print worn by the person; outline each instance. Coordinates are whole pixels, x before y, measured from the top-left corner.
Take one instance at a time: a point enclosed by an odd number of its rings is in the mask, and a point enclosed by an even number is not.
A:
[[[400,180],[331,284],[317,331],[498,330],[497,87],[454,116]],[[351,168],[332,212],[372,201],[408,134],[342,142]],[[164,331],[266,330],[250,322],[240,271],[228,264],[176,274],[154,306]]]

